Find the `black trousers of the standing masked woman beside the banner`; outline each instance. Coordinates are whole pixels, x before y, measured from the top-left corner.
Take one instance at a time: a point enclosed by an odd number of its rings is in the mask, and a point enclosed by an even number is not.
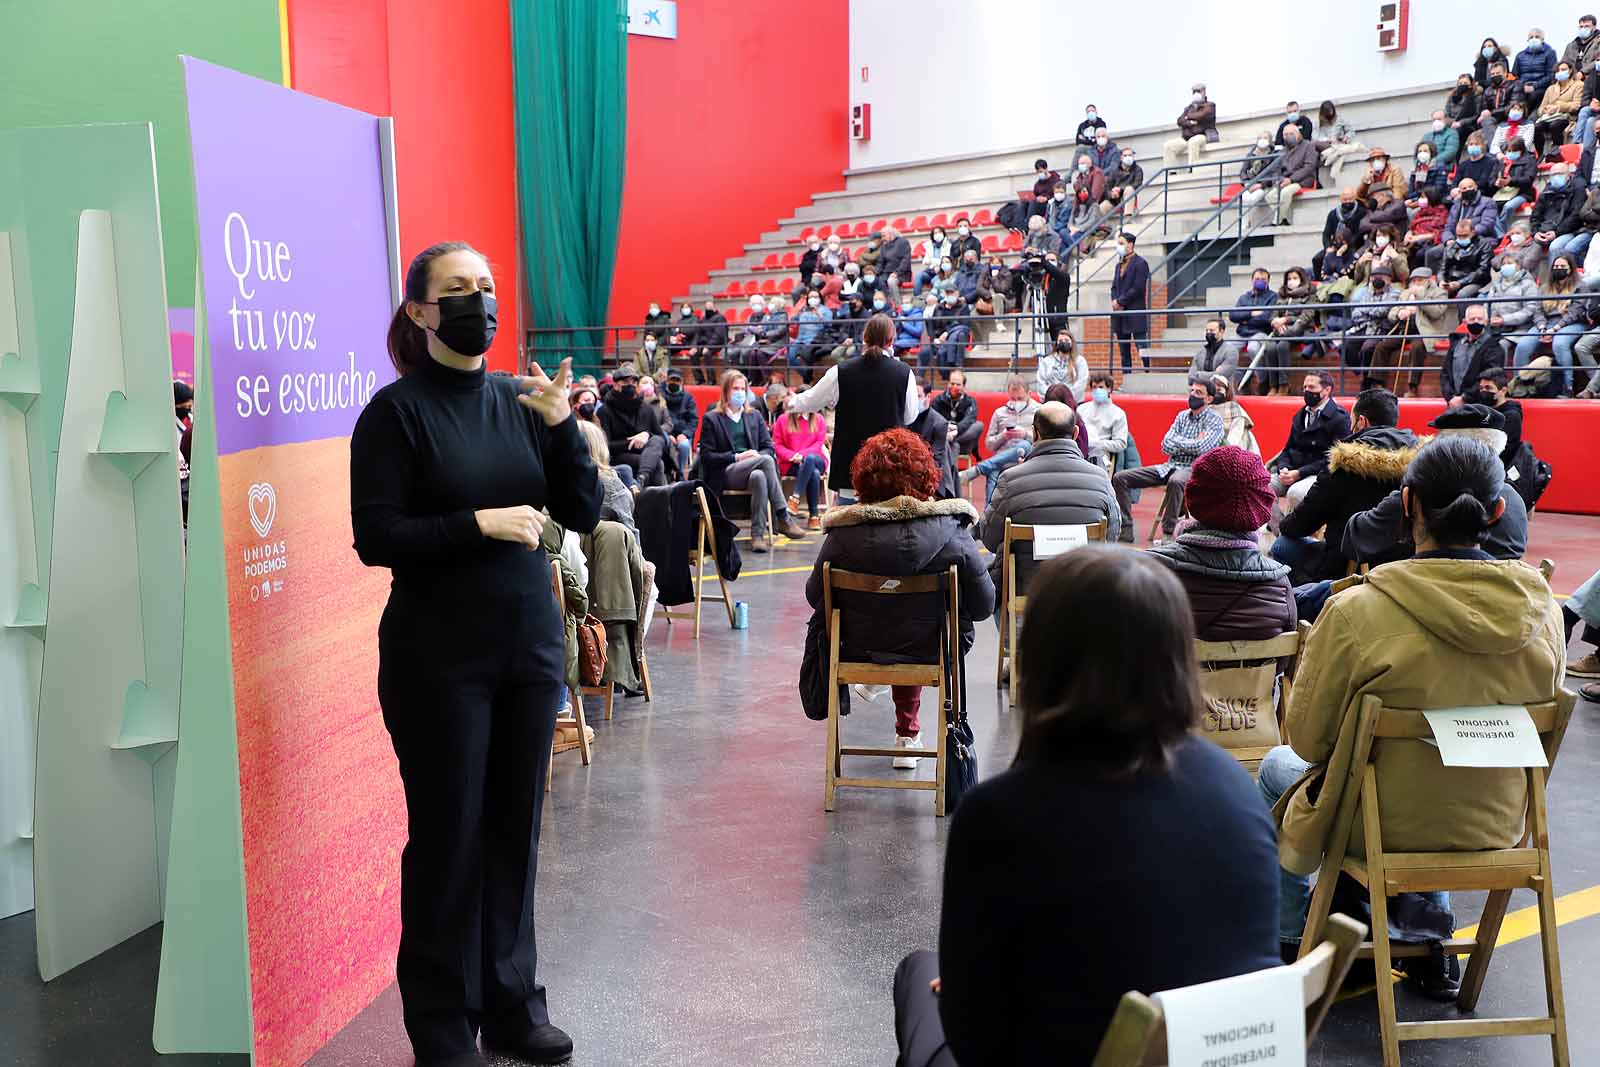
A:
[[[395,593],[384,613],[378,699],[410,835],[395,973],[418,1059],[550,1021],[533,888],[563,656],[547,589],[443,613]]]

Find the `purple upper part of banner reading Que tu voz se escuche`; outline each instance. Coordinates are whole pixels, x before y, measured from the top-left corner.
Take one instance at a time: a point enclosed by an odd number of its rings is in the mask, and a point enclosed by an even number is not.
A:
[[[378,120],[184,58],[221,454],[349,437],[394,368]]]

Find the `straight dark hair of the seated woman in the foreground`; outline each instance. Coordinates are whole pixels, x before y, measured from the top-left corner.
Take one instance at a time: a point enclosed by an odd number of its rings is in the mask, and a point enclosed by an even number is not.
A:
[[[1045,563],[1018,641],[1018,763],[1160,771],[1205,704],[1189,597],[1168,566],[1133,549],[1086,545]]]

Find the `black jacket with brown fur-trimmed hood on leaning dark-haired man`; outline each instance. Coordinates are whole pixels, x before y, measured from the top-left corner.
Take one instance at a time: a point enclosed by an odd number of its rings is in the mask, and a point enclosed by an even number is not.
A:
[[[1328,528],[1318,542],[1320,558],[1306,565],[1304,581],[1344,577],[1350,561],[1344,553],[1344,525],[1400,486],[1418,448],[1411,430],[1374,426],[1328,451],[1328,472],[1317,475],[1310,493],[1278,526],[1286,537],[1310,537]]]

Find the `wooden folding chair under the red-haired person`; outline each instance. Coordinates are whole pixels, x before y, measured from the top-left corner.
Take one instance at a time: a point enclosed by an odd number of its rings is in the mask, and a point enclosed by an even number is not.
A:
[[[840,621],[834,606],[835,592],[869,593],[877,597],[944,595],[946,637],[939,641],[936,659],[922,664],[874,664],[840,659]],[[946,726],[950,721],[949,705],[960,693],[962,669],[962,609],[960,582],[955,566],[941,574],[912,574],[891,577],[888,574],[861,574],[835,571],[832,563],[822,565],[822,616],[827,619],[827,771],[822,793],[822,809],[834,809],[834,795],[840,785],[856,789],[931,789],[933,814],[944,817]],[[838,736],[838,686],[862,685],[915,685],[939,689],[939,720],[934,725],[938,747],[934,749],[872,749],[846,747]],[[914,757],[934,760],[933,781],[902,777],[845,777],[842,757]]]

